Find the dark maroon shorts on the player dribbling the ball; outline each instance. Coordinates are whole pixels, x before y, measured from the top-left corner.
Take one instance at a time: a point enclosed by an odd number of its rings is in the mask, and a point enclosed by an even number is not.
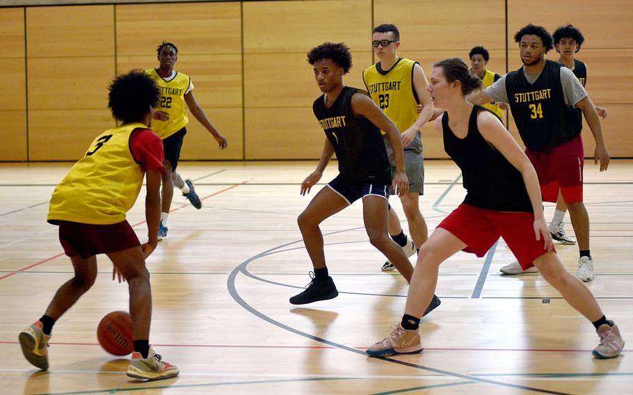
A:
[[[91,225],[58,220],[59,241],[69,257],[83,259],[141,245],[127,220],[112,225]]]

